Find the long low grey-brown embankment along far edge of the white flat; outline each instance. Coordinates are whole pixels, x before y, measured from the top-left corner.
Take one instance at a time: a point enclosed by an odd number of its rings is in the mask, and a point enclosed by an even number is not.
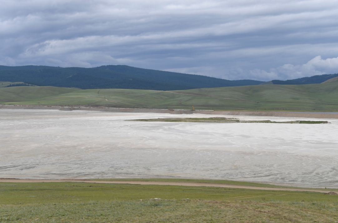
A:
[[[266,112],[266,111],[213,111],[213,110],[182,110],[182,109],[143,109],[143,108],[103,108],[81,106],[41,106],[41,105],[0,105],[0,109],[53,109],[61,111],[104,111],[104,112],[140,112],[169,114],[207,114],[207,115],[249,115],[301,118],[338,118],[338,113],[330,112]]]

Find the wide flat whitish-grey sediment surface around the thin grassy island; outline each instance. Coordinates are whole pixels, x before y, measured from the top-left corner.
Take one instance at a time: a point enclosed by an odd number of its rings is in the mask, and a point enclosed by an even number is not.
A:
[[[338,188],[338,119],[125,121],[166,117],[215,115],[0,109],[0,178],[184,177]]]

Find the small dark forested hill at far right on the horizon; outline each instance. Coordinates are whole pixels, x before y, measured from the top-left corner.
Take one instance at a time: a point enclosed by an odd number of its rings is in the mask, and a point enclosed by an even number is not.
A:
[[[304,77],[304,78],[297,78],[293,80],[286,80],[286,81],[280,81],[280,80],[272,80],[270,82],[266,82],[263,84],[320,84],[323,83],[329,79],[338,77],[338,74],[323,74],[323,75],[315,75],[312,77]]]

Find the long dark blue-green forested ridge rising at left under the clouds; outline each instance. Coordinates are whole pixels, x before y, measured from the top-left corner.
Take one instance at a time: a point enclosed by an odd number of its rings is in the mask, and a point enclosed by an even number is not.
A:
[[[263,81],[254,80],[231,81],[126,65],[107,65],[94,68],[33,65],[0,66],[0,81],[81,89],[124,88],[148,90],[185,90],[263,83]]]

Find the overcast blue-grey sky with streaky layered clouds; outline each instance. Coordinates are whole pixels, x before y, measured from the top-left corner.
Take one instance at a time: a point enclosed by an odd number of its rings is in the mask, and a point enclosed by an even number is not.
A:
[[[337,0],[1,0],[0,65],[238,80],[338,73]]]

